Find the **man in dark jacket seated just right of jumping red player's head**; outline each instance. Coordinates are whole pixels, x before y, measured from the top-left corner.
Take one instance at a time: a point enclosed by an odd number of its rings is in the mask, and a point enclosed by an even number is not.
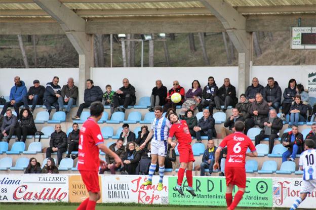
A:
[[[216,137],[215,119],[210,115],[208,109],[204,109],[203,117],[199,119],[198,124],[193,128],[193,131],[195,131],[196,139],[200,143],[202,143],[201,136],[208,136],[209,140],[212,140],[213,136]]]

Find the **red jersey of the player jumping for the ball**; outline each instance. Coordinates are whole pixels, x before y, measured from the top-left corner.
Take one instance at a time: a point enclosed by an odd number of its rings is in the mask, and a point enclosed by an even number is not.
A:
[[[179,144],[190,144],[192,141],[189,127],[187,126],[185,120],[181,120],[180,123],[174,123],[171,125],[169,137],[172,138],[173,135],[176,136]]]

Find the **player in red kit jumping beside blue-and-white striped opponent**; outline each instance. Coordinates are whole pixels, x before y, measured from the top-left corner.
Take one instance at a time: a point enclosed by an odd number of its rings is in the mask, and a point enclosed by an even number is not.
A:
[[[188,191],[193,197],[196,196],[194,193],[192,184],[193,184],[193,177],[192,177],[192,168],[193,168],[193,152],[192,152],[192,146],[191,146],[191,135],[189,132],[189,128],[186,124],[185,120],[179,120],[177,114],[172,113],[168,116],[169,121],[172,123],[172,126],[169,130],[169,137],[168,137],[168,143],[171,145],[172,148],[175,148],[177,143],[172,141],[173,135],[177,138],[177,141],[179,142],[178,145],[178,151],[180,155],[180,169],[178,172],[178,183],[175,189],[181,194],[184,195],[182,191],[182,181],[184,177],[184,172],[186,169],[185,177],[188,183],[188,187],[186,188],[186,191]]]

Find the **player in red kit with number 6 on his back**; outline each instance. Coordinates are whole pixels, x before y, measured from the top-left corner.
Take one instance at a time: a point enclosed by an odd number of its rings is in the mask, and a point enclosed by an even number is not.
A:
[[[258,156],[252,141],[242,133],[245,129],[245,123],[242,121],[236,121],[234,128],[235,133],[226,136],[219,144],[215,152],[215,163],[213,166],[214,170],[218,169],[218,159],[220,152],[225,146],[227,146],[227,156],[225,162],[227,210],[233,210],[243,198],[245,193],[246,155],[250,157]],[[251,152],[247,152],[248,147],[250,148]],[[234,185],[238,186],[238,192],[235,194],[234,200],[232,200],[231,193]]]

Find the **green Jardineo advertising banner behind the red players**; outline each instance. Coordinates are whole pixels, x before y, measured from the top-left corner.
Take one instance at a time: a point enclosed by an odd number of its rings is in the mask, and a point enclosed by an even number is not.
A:
[[[169,203],[176,205],[216,205],[225,206],[226,181],[217,177],[193,177],[193,188],[196,197],[193,198],[186,190],[184,179],[184,196],[175,189],[177,177],[169,177]],[[238,206],[272,207],[272,180],[267,178],[247,178],[246,191]],[[233,195],[238,191],[235,187]]]

